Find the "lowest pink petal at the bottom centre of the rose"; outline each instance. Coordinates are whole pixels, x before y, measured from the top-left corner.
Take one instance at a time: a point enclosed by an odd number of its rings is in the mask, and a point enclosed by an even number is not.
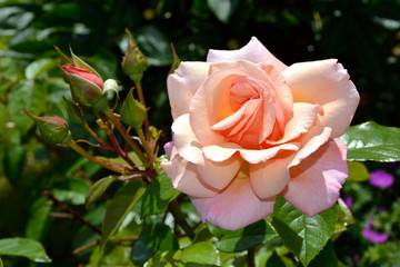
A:
[[[191,198],[202,221],[227,230],[238,230],[272,214],[274,198],[260,200],[249,179],[234,179],[213,198]]]

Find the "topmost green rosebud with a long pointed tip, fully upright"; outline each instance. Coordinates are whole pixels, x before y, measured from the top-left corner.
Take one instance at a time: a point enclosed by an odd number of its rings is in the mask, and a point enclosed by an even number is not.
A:
[[[143,72],[149,68],[149,62],[138,48],[130,31],[128,29],[126,29],[126,31],[129,37],[129,43],[127,52],[122,58],[122,70],[129,75],[134,82],[138,82],[142,79]]]

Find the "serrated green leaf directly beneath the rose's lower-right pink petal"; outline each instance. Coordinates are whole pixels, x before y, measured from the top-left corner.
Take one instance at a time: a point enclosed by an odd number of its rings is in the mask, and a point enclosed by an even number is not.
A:
[[[337,219],[338,206],[310,217],[278,196],[272,224],[283,244],[308,266],[333,234]]]

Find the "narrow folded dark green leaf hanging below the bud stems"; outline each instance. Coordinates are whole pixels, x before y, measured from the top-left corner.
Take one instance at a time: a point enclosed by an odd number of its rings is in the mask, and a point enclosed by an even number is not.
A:
[[[146,188],[141,180],[124,185],[113,197],[107,209],[102,224],[101,243],[102,247],[118,231],[123,219],[132,210],[134,205],[143,196]]]

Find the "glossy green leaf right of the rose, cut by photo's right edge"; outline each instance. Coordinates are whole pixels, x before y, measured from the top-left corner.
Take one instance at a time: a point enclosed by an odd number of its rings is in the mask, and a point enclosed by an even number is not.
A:
[[[370,121],[352,126],[340,137],[349,148],[348,160],[400,161],[400,128]]]

